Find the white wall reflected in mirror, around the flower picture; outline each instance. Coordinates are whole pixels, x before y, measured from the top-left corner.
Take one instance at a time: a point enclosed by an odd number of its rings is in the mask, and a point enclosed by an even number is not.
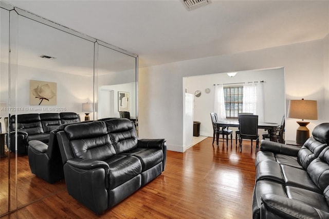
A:
[[[52,105],[29,104],[30,80],[57,83],[57,105],[53,105],[54,110],[43,111],[44,107],[52,107]],[[15,106],[27,108],[27,110],[20,110],[17,114],[75,112],[80,115],[83,121],[85,115],[82,113],[82,103],[93,102],[93,77],[46,71],[20,65],[17,70],[16,100]],[[92,118],[90,115],[90,119]]]

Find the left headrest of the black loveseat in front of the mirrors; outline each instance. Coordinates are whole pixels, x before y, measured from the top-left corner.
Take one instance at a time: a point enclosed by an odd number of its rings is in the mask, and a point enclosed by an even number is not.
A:
[[[69,124],[64,131],[69,140],[95,138],[107,134],[103,121]]]

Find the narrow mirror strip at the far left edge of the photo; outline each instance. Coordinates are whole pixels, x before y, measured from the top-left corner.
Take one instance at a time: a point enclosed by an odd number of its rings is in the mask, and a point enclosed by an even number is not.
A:
[[[5,117],[8,117],[9,11],[0,8],[0,215],[8,212],[8,152],[5,141]]]

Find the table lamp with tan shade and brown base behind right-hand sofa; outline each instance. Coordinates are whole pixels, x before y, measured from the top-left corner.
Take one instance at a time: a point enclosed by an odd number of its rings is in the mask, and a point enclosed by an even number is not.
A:
[[[296,142],[303,145],[304,142],[309,138],[309,130],[306,127],[309,122],[305,122],[304,119],[318,119],[317,101],[304,99],[290,100],[288,107],[288,117],[302,119],[302,121],[297,121],[299,127],[296,133]]]

